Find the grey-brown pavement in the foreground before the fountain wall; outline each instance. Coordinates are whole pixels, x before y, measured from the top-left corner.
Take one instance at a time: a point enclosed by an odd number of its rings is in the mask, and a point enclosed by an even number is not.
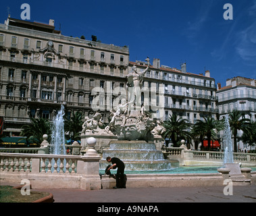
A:
[[[0,182],[1,185],[11,185]],[[202,186],[179,188],[122,189],[32,189],[53,194],[54,202],[168,203],[168,202],[256,202],[256,184],[250,186]],[[228,194],[227,194],[228,193]],[[226,194],[226,195],[225,195]]]

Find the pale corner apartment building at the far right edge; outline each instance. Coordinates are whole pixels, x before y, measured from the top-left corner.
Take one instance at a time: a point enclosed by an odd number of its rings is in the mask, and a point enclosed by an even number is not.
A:
[[[242,113],[242,118],[256,120],[256,80],[244,77],[234,77],[226,80],[226,86],[217,84],[217,107],[222,119],[230,111],[237,109]],[[222,134],[220,134],[222,136]],[[242,136],[242,130],[238,132],[238,141]],[[238,142],[238,148],[247,148],[242,141]]]

